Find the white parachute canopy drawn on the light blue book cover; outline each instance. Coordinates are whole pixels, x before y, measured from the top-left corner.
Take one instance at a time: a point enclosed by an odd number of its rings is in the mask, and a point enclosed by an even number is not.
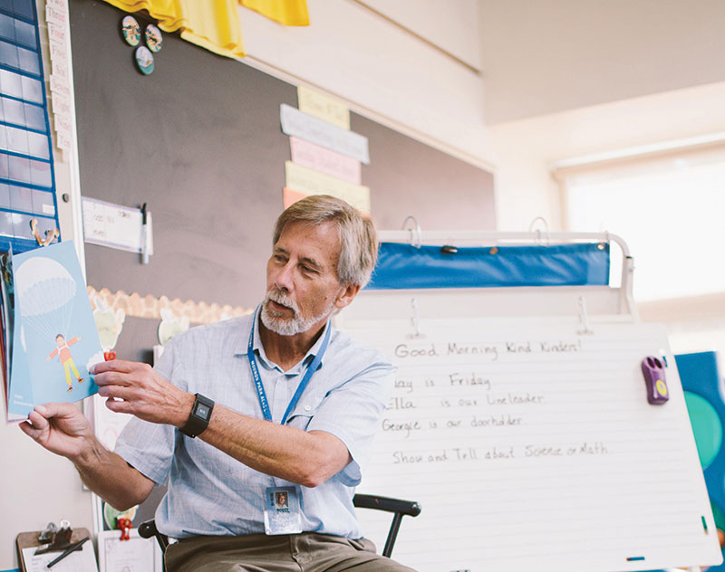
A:
[[[53,344],[57,334],[68,334],[73,315],[76,284],[63,266],[38,256],[14,272],[15,296],[25,325]]]

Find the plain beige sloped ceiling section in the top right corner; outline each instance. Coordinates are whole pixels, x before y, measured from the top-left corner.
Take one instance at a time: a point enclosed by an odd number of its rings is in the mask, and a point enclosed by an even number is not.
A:
[[[725,81],[722,0],[478,0],[489,125]]]

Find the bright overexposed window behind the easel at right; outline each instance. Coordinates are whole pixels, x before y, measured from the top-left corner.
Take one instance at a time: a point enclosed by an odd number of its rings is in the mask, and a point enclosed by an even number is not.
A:
[[[620,235],[638,302],[725,292],[725,146],[561,169],[567,230]]]

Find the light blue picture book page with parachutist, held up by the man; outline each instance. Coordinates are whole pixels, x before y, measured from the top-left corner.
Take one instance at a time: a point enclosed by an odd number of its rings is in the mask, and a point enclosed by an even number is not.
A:
[[[102,348],[73,241],[14,254],[8,262],[14,294],[8,333],[15,343],[7,412],[23,420],[35,404],[72,403],[96,393],[86,364],[102,356]]]

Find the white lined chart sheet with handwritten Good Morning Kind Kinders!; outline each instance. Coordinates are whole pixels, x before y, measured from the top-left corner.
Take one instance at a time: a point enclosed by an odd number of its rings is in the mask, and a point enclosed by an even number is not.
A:
[[[720,563],[661,327],[421,315],[413,329],[407,313],[338,319],[399,367],[358,488],[420,502],[393,558],[420,572]],[[646,399],[648,355],[667,359],[664,405]],[[388,520],[370,512],[362,530],[380,546]]]

